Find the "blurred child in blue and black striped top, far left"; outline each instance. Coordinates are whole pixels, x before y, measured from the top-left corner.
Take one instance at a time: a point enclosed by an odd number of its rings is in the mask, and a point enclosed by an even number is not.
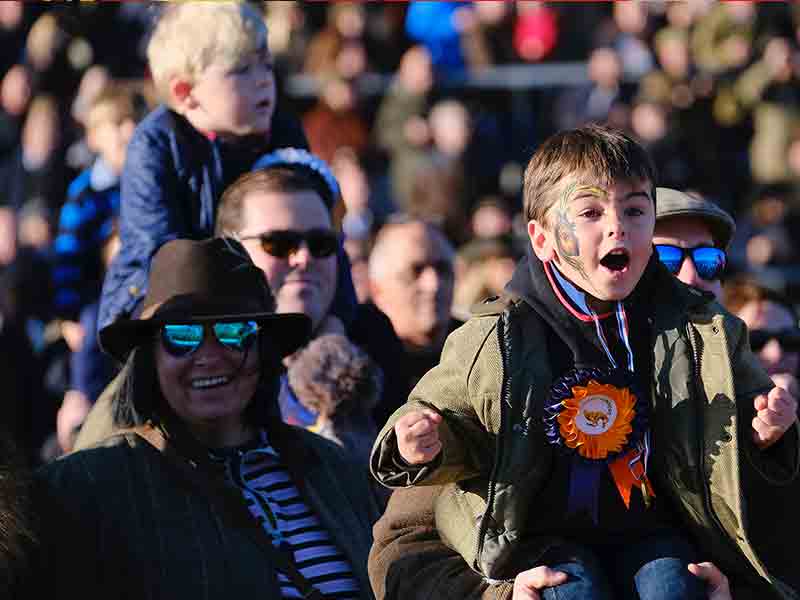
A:
[[[102,92],[85,125],[87,145],[97,159],[70,184],[52,253],[54,313],[71,351],[69,389],[56,417],[62,451],[71,450],[77,426],[114,375],[94,332],[109,251],[117,239],[120,173],[136,127],[131,93],[115,87]]]

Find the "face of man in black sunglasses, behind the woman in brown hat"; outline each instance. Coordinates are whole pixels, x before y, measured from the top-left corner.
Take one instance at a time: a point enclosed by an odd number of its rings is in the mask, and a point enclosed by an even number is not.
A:
[[[336,253],[314,256],[307,242],[275,256],[254,236],[273,232],[330,232],[330,214],[316,192],[253,192],[242,201],[242,243],[267,276],[278,312],[301,312],[313,327],[322,322],[336,290]]]

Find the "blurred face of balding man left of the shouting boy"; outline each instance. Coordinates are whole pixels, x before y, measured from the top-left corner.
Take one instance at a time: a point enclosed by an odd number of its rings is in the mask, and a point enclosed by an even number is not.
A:
[[[425,348],[447,334],[453,304],[453,257],[444,240],[419,225],[401,226],[379,278],[370,281],[372,298],[407,345]]]

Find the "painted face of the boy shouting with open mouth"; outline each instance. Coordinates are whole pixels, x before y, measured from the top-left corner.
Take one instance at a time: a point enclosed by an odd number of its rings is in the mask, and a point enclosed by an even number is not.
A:
[[[599,300],[622,300],[644,273],[655,226],[650,190],[648,181],[574,183],[549,211],[559,270]]]

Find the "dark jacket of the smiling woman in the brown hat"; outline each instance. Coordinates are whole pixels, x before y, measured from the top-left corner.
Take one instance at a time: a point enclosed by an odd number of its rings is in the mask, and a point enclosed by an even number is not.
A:
[[[366,472],[314,434],[278,425],[268,436],[370,600],[379,505]],[[225,483],[224,463],[191,439],[152,427],[115,435],[41,469],[35,500],[42,556],[31,597],[280,597],[262,526]]]

